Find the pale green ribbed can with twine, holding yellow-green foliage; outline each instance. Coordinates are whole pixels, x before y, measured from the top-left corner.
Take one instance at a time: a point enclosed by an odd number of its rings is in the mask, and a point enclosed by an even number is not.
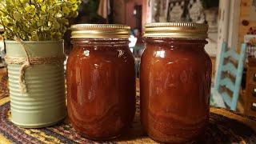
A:
[[[0,0],[11,121],[50,126],[66,117],[63,35],[80,0]]]

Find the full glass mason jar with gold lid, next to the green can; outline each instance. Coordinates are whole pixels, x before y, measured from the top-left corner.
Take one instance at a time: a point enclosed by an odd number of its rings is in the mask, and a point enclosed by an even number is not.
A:
[[[70,122],[86,138],[118,137],[135,114],[130,27],[79,24],[71,30],[73,50],[66,71]]]

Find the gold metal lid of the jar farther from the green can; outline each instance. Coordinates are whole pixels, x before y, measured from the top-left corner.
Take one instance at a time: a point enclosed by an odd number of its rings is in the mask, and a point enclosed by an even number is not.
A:
[[[144,37],[207,38],[208,25],[192,22],[158,22],[145,26]]]

